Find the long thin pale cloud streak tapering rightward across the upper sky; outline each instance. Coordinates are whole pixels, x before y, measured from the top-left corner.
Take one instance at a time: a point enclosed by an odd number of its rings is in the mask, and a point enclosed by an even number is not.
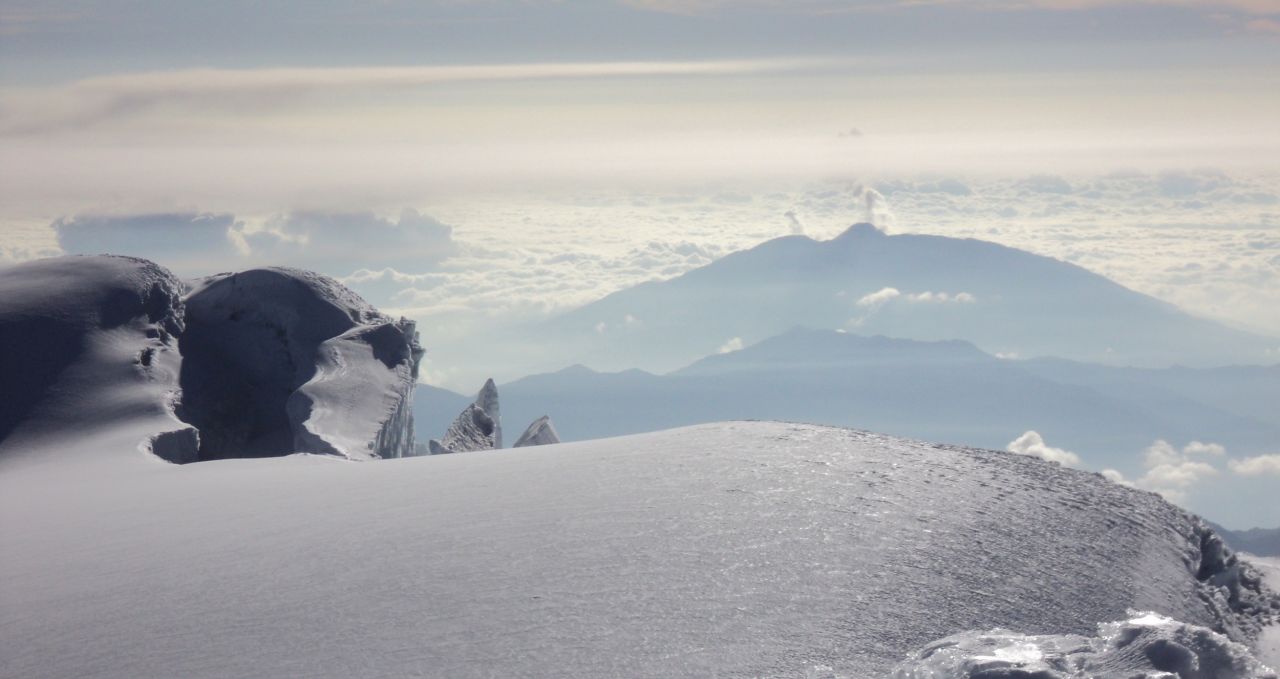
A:
[[[412,91],[434,85],[485,81],[760,74],[833,63],[826,59],[745,59],[128,73],[58,87],[5,90],[0,92],[5,102],[0,108],[0,135],[79,128],[163,106],[196,111],[260,111],[294,105],[311,92]]]

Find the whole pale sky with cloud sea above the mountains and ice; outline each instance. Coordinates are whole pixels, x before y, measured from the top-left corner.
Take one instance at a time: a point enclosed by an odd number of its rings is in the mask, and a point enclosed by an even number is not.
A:
[[[0,0],[0,265],[302,265],[433,350],[869,220],[1280,337],[1276,120],[1280,0]]]

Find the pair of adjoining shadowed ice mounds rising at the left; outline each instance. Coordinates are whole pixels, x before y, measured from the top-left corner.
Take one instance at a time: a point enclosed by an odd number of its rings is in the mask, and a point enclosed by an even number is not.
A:
[[[172,462],[399,457],[421,355],[412,322],[308,272],[188,287],[134,258],[20,264],[0,272],[0,450],[110,428]]]

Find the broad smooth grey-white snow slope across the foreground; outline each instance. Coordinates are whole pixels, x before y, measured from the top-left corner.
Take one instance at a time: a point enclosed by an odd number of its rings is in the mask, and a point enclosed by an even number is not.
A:
[[[32,679],[876,678],[966,630],[1132,609],[1249,641],[1275,612],[1155,495],[781,423],[379,464],[33,457],[0,466],[0,675]]]

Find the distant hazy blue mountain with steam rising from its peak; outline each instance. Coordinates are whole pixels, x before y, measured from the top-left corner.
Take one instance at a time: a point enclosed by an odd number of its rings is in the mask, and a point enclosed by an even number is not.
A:
[[[561,364],[667,372],[733,338],[753,343],[794,325],[1148,366],[1261,363],[1280,346],[1052,258],[870,224],[829,241],[774,238],[527,334]]]

